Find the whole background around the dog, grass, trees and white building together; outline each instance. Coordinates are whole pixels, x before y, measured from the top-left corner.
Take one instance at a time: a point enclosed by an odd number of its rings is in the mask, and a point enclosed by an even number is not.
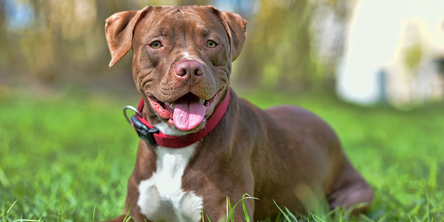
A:
[[[108,68],[104,21],[146,5],[240,14],[238,94],[326,120],[376,190],[367,221],[442,218],[442,0],[0,0],[0,212],[18,200],[11,215],[85,221],[123,208],[137,138],[121,108],[140,97],[131,51]]]

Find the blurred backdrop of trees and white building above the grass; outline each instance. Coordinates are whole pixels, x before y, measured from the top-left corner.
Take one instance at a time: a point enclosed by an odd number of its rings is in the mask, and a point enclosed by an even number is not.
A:
[[[322,90],[400,108],[443,98],[444,3],[419,0],[2,0],[0,85],[131,92],[131,53],[106,66],[104,20],[146,5],[193,4],[249,22],[235,86]]]

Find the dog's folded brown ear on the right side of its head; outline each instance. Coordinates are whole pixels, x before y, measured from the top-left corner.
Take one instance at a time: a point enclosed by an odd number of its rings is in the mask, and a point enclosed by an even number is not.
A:
[[[211,6],[213,14],[224,25],[230,39],[231,61],[233,62],[241,53],[247,37],[247,21],[240,15],[231,12],[220,12]]]

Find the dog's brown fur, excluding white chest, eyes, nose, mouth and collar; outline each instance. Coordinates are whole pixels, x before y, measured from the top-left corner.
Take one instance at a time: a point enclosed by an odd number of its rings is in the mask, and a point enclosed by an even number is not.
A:
[[[188,92],[209,99],[222,90],[221,101],[229,88],[231,62],[246,38],[246,24],[239,15],[219,12],[211,6],[145,7],[119,12],[106,20],[110,66],[132,47],[134,81],[145,100],[148,93],[160,101],[172,102]],[[163,47],[149,48],[153,39],[160,40]],[[207,39],[218,45],[205,48]],[[202,78],[177,80],[173,70],[184,51],[203,65]],[[149,105],[143,112],[150,123],[167,121]],[[174,125],[170,127],[177,130]],[[190,132],[203,127],[204,122]],[[132,205],[134,221],[144,219],[137,206],[138,185],[156,170],[154,149],[143,140],[139,143],[123,214]],[[239,200],[244,193],[259,198],[246,201],[254,220],[279,213],[273,199],[282,207],[304,212],[313,198],[326,197],[332,208],[361,202],[369,205],[373,198],[373,191],[350,164],[336,134],[322,120],[294,106],[261,110],[237,97],[233,90],[224,118],[202,140],[188,163],[182,189],[203,197],[204,213],[213,221],[226,216],[227,195],[231,200]],[[238,207],[236,221],[243,217]],[[120,216],[112,221],[122,219]]]

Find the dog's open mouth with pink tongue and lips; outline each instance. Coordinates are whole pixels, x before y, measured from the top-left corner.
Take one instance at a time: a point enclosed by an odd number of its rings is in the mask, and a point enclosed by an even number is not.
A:
[[[148,100],[157,115],[168,120],[168,125],[187,131],[197,127],[212,114],[221,90],[208,100],[203,100],[189,92],[173,102],[162,102],[154,96]]]

